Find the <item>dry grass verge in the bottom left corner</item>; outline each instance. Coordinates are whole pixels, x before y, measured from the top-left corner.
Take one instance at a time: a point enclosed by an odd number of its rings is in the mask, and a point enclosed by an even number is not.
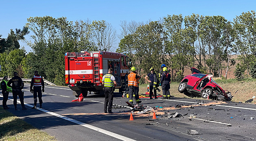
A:
[[[57,141],[0,107],[0,141]]]

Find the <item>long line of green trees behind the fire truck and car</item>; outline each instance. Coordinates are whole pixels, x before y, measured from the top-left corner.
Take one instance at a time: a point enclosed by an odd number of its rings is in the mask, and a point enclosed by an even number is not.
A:
[[[7,39],[0,36],[1,76],[12,76],[15,70],[22,78],[32,78],[33,71],[38,70],[47,80],[65,85],[66,52],[113,51],[118,37],[116,52],[128,55],[134,66],[144,72],[167,65],[173,81],[179,82],[188,67],[223,78],[236,67],[236,79],[256,77],[254,11],[242,13],[234,21],[197,14],[167,15],[145,23],[121,21],[120,35],[104,20],[73,22],[65,17],[45,16],[27,21],[23,29],[11,29]],[[33,41],[24,39],[29,33]],[[26,53],[19,40],[33,51]],[[234,55],[238,58],[234,59]]]

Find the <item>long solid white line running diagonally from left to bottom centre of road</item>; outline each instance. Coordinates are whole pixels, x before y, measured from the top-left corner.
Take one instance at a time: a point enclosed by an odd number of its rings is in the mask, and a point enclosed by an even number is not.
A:
[[[3,97],[3,96],[0,95],[0,97]],[[10,98],[8,98],[8,99],[10,99]],[[10,100],[13,101],[13,99],[10,99]],[[20,103],[20,101],[18,101],[18,100],[17,100],[17,102]],[[28,106],[28,107],[33,107],[33,105],[30,105],[30,104],[28,104],[28,103],[24,103],[24,104],[25,104],[26,106]],[[52,115],[52,116],[56,116],[56,117],[62,118],[62,119],[64,119],[64,120],[67,120],[67,121],[70,121],[70,122],[73,122],[73,123],[75,123],[75,124],[84,126],[84,127],[86,127],[86,128],[89,128],[89,129],[98,131],[98,132],[100,132],[100,133],[109,135],[109,136],[111,136],[111,137],[115,137],[115,138],[120,139],[120,140],[123,140],[123,141],[136,141],[136,140],[134,140],[134,139],[130,139],[130,138],[128,138],[128,137],[124,137],[124,136],[122,136],[122,135],[118,135],[118,134],[113,133],[113,132],[110,132],[110,131],[108,131],[108,130],[104,130],[104,129],[102,129],[102,128],[98,128],[98,127],[92,126],[92,125],[90,125],[90,124],[86,124],[86,123],[80,122],[80,121],[78,121],[78,120],[74,120],[74,119],[72,119],[72,118],[68,118],[68,117],[66,117],[66,116],[62,116],[62,115],[60,115],[60,114],[56,114],[56,113],[54,113],[54,112],[50,112],[50,111],[48,111],[48,110],[46,110],[46,109],[41,109],[41,108],[38,108],[38,107],[37,107],[37,110],[42,111],[42,112],[45,112],[45,113],[50,114],[50,115]]]

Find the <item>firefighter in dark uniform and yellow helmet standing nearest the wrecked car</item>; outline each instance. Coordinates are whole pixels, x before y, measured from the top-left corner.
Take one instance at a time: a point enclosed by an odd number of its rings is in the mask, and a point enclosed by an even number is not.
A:
[[[170,99],[170,83],[171,83],[171,75],[168,73],[167,68],[164,67],[163,74],[161,77],[163,99]]]

